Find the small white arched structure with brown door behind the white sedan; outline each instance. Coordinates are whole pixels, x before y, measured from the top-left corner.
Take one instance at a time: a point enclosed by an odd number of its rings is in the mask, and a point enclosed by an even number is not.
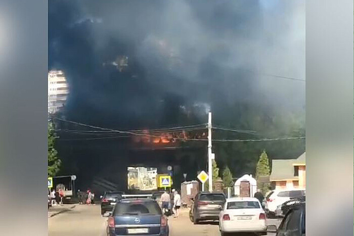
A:
[[[257,180],[251,174],[245,174],[236,180],[234,191],[234,195],[239,197],[253,197],[257,192]]]

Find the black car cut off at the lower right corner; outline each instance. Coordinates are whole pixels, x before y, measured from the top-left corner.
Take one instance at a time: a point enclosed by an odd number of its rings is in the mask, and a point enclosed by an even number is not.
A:
[[[306,206],[304,199],[294,199],[283,205],[284,219],[277,229],[276,225],[269,225],[268,232],[276,233],[276,236],[305,236],[305,213]]]

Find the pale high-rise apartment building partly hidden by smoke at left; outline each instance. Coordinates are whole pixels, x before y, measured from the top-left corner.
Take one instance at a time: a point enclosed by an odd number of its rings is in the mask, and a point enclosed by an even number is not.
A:
[[[68,83],[61,70],[48,73],[48,113],[54,114],[64,107],[69,94]]]

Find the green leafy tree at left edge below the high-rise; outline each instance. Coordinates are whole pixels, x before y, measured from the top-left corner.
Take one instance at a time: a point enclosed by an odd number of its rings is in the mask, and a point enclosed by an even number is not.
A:
[[[48,176],[55,176],[60,170],[61,160],[58,157],[58,152],[55,149],[56,135],[54,132],[54,124],[48,123]]]

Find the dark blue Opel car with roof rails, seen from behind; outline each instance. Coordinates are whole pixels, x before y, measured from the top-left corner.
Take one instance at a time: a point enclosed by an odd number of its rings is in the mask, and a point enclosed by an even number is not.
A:
[[[108,217],[109,236],[168,236],[167,217],[152,199],[122,199]]]

